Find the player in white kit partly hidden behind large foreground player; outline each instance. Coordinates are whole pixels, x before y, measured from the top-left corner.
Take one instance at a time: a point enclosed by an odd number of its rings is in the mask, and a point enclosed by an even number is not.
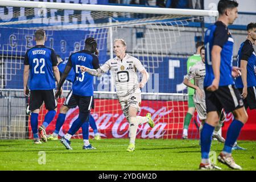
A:
[[[188,72],[188,75],[185,76],[183,83],[190,88],[193,88],[196,90],[194,96],[193,96],[193,101],[195,103],[195,107],[197,110],[197,114],[199,115],[199,119],[201,120],[201,125],[199,130],[203,128],[205,119],[207,118],[207,109],[205,105],[205,93],[204,93],[204,77],[205,77],[205,48],[202,47],[200,49],[200,55],[202,58],[202,61],[197,62],[195,65],[193,65]],[[192,79],[195,79],[195,85],[192,84],[190,81]],[[225,139],[221,137],[219,131],[221,129],[221,126],[223,122],[226,119],[225,112],[222,110],[221,111],[221,120],[218,126],[215,127],[214,132],[213,132],[213,138],[216,138],[219,142],[224,143]]]

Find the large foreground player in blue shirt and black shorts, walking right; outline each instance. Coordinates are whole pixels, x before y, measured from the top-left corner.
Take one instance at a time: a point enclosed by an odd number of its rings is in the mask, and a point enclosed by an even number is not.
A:
[[[201,163],[200,169],[218,168],[209,162],[210,144],[214,127],[218,125],[221,109],[232,112],[234,120],[226,135],[225,146],[218,156],[221,163],[233,169],[242,169],[234,162],[231,152],[233,144],[247,121],[240,92],[235,88],[233,77],[240,75],[237,67],[232,67],[233,38],[228,25],[238,16],[236,1],[221,0],[218,2],[219,18],[205,32],[205,101],[207,119],[201,130]]]

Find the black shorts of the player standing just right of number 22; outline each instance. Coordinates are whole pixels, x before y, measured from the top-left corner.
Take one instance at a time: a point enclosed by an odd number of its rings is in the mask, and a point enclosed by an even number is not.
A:
[[[93,96],[77,96],[72,94],[75,98],[77,105],[79,106],[79,111],[88,111],[90,109],[94,109],[94,101]]]

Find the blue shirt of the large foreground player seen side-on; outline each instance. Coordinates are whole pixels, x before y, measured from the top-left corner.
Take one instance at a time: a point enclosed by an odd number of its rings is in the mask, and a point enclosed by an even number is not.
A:
[[[212,69],[212,48],[220,46],[221,63],[220,63],[220,82],[219,86],[234,84],[232,77],[233,63],[233,45],[234,40],[230,34],[228,27],[224,23],[218,21],[210,26],[205,32],[205,78],[204,86],[212,85],[214,73]]]

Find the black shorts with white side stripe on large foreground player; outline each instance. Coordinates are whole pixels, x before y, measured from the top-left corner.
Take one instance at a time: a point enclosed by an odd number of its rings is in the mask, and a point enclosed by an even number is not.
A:
[[[218,90],[209,92],[204,88],[207,113],[210,111],[221,112],[224,108],[226,113],[243,107],[243,99],[234,85],[219,86]]]

